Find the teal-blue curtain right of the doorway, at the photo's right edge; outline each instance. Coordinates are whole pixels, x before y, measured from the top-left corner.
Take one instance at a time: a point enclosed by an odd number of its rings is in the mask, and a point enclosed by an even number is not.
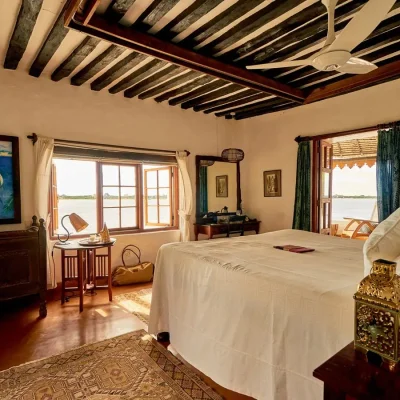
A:
[[[378,131],[376,184],[379,221],[400,207],[400,124]]]

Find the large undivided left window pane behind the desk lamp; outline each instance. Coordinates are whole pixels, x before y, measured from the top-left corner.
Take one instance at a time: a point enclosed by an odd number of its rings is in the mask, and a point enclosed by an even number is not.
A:
[[[57,194],[53,204],[58,208],[58,229],[54,233],[63,234],[65,229],[61,226],[61,219],[65,215],[76,213],[89,225],[78,234],[92,234],[97,229],[96,205],[96,163],[93,161],[77,161],[53,159],[56,168]],[[64,225],[71,235],[76,235],[69,218],[64,219]]]

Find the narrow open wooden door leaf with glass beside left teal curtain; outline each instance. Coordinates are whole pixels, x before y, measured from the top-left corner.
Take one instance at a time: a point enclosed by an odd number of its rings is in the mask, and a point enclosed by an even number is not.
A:
[[[320,141],[319,146],[319,232],[329,235],[332,223],[332,144]]]

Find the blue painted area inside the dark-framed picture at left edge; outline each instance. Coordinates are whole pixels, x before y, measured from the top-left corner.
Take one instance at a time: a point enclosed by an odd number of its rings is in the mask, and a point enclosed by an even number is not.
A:
[[[12,158],[0,156],[0,219],[14,218]]]

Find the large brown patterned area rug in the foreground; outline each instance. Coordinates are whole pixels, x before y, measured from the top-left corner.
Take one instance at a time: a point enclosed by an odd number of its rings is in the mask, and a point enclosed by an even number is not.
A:
[[[143,330],[0,372],[0,398],[222,400]]]

